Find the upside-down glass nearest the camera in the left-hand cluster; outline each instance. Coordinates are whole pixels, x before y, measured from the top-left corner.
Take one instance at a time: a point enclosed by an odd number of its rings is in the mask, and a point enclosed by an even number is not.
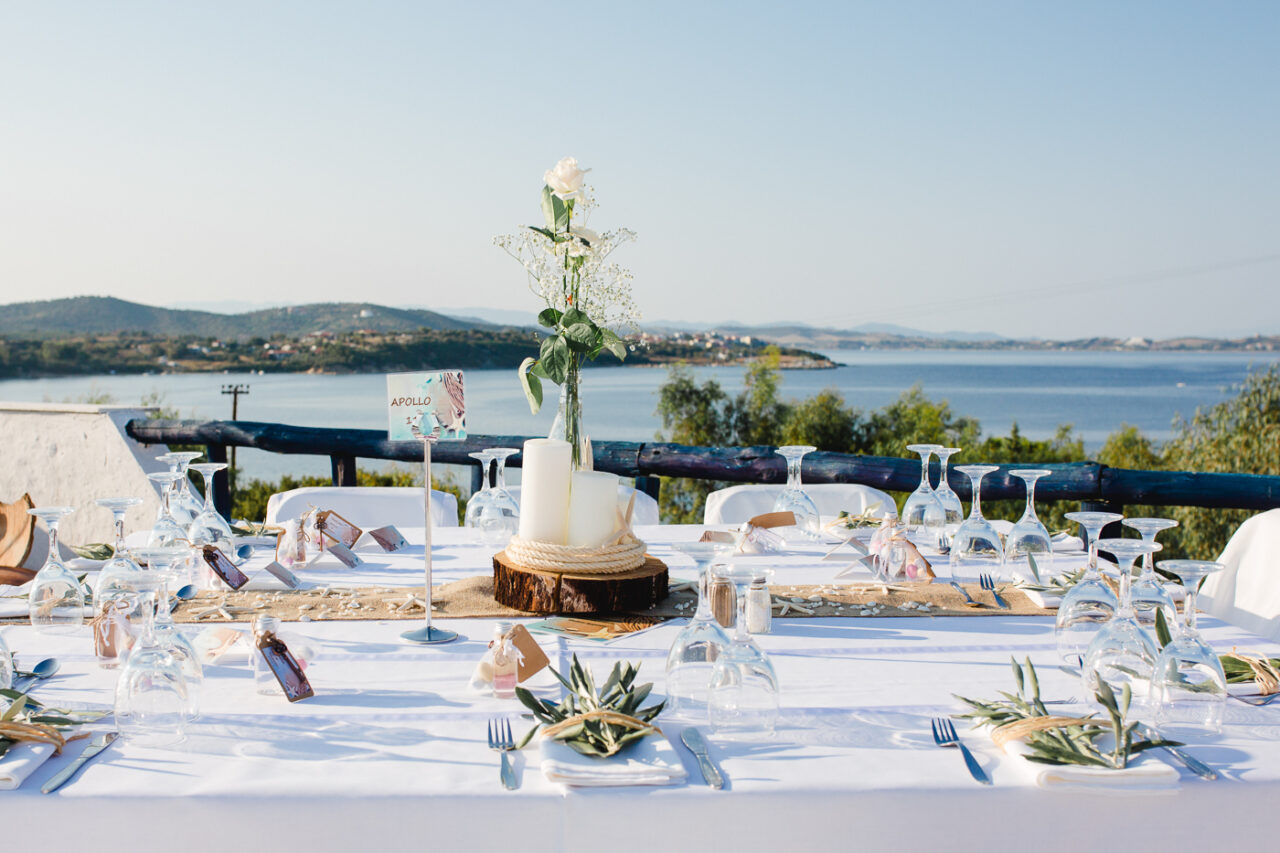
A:
[[[172,747],[187,736],[187,683],[178,658],[156,638],[156,589],[142,596],[142,634],[115,683],[115,725],[143,747]]]

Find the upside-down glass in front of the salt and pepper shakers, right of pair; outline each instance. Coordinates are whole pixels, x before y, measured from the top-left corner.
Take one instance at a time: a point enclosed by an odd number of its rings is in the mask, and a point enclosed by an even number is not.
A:
[[[733,584],[737,616],[733,639],[712,669],[708,716],[712,731],[736,740],[771,738],[778,721],[777,672],[746,626],[748,590],[758,574],[748,566],[728,566],[719,573]]]

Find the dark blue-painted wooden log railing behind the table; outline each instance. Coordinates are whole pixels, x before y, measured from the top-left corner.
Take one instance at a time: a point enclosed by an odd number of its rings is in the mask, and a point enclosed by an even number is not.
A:
[[[247,420],[131,420],[125,432],[143,444],[204,444],[211,461],[225,461],[228,447],[252,447],[273,453],[328,456],[334,485],[356,484],[356,460],[401,462],[422,460],[419,442],[392,442],[375,429],[291,426]],[[522,447],[525,435],[470,435],[461,442],[440,442],[431,451],[435,462],[468,465],[479,488],[480,467],[468,453],[489,447]],[[687,476],[731,483],[781,483],[786,464],[773,447],[691,447],[667,442],[594,442],[595,469],[636,478],[636,487],[658,497],[659,478]],[[521,455],[508,465],[520,467]],[[1123,507],[1133,503],[1267,510],[1280,506],[1280,476],[1256,474],[1198,474],[1193,471],[1137,471],[1097,462],[1020,462],[1002,465],[982,484],[987,500],[1020,500],[1023,482],[1010,476],[1018,467],[1046,467],[1036,496],[1044,501],[1080,501],[1088,507]],[[934,479],[937,464],[934,464]],[[806,483],[864,483],[888,492],[910,492],[920,483],[920,464],[909,459],[814,452],[804,459]],[[951,471],[951,487],[969,497],[968,478]],[[224,474],[214,478],[214,501],[223,515],[230,512],[230,491]]]

